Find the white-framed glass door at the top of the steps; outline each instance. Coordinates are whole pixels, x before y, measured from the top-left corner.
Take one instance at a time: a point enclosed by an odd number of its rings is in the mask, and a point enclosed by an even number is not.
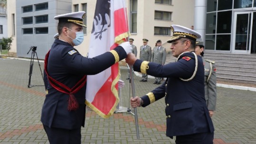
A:
[[[232,53],[251,53],[252,27],[254,27],[251,26],[252,19],[253,12],[234,13]]]

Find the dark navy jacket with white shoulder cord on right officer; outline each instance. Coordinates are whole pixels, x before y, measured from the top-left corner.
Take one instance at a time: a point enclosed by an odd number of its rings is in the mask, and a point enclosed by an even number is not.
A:
[[[204,66],[200,56],[195,77],[188,79],[195,70],[195,56],[184,53],[177,62],[162,66],[137,59],[133,65],[135,71],[144,71],[151,76],[167,77],[166,83],[142,96],[145,107],[165,97],[166,135],[183,136],[195,133],[213,132],[214,127],[204,96]]]

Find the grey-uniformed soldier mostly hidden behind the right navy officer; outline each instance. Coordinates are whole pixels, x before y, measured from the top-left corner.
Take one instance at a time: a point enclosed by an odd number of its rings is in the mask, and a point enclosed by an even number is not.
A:
[[[212,117],[216,109],[217,88],[216,88],[216,67],[215,61],[204,59],[204,44],[203,42],[196,43],[195,53],[202,57],[204,64],[204,92],[206,105]]]

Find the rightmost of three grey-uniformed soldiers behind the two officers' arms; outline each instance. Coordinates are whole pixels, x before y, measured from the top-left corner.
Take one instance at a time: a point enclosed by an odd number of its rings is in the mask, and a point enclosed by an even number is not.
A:
[[[165,59],[166,59],[166,49],[161,46],[162,45],[161,40],[158,40],[156,44],[157,46],[154,47],[152,52],[151,62],[164,65]],[[162,77],[155,77],[155,82],[153,84],[157,84],[157,85],[161,84],[161,79]]]

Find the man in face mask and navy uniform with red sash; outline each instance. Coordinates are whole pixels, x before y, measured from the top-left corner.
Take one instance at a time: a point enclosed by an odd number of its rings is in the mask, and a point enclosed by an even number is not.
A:
[[[50,144],[81,144],[86,76],[104,71],[132,52],[130,43],[123,42],[102,55],[83,57],[74,46],[84,40],[84,16],[85,12],[79,11],[54,17],[59,37],[45,58],[48,93],[41,114]]]

